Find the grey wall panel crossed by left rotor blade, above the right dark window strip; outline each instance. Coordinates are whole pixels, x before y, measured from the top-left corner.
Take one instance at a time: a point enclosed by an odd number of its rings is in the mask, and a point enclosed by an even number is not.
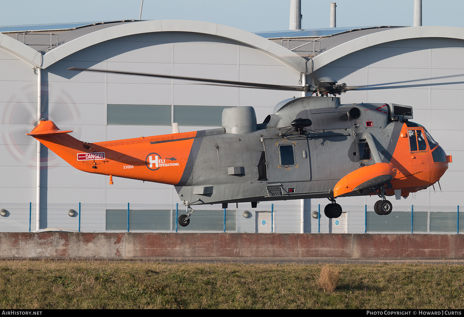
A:
[[[214,65],[214,67],[211,67],[210,65],[205,64],[175,63],[174,75],[236,81],[238,80],[238,67],[237,65],[227,64],[217,64]],[[194,81],[174,80],[174,84],[192,83],[198,84],[198,82]],[[213,88],[214,87],[211,87],[211,89]]]

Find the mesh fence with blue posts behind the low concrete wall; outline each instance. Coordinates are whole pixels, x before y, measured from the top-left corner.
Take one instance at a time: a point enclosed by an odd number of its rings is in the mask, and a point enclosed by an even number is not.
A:
[[[75,232],[243,232],[243,233],[430,233],[464,230],[458,206],[395,206],[387,216],[373,206],[342,206],[342,216],[324,216],[325,205],[229,204],[196,205],[190,223],[177,222],[183,205],[97,203],[0,203],[0,232],[58,228]],[[39,211],[39,223],[37,215]]]

